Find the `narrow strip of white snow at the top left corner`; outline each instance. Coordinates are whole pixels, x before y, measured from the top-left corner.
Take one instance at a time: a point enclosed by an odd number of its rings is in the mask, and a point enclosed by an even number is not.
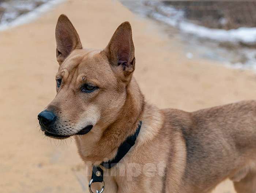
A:
[[[30,12],[27,12],[25,14],[18,16],[15,20],[12,20],[11,22],[3,22],[0,24],[0,31],[4,31],[8,28],[12,28],[12,27],[16,27],[18,25],[29,23],[29,22],[37,19],[39,16],[41,16],[42,13],[49,11],[55,5],[60,4],[64,1],[65,0],[50,0],[50,1],[40,5],[39,7],[33,9],[33,11],[30,11]]]

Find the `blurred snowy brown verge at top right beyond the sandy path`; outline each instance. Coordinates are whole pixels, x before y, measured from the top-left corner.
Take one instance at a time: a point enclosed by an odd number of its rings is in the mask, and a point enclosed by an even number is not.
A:
[[[188,46],[187,57],[256,69],[255,1],[121,1],[131,11],[157,20]],[[174,35],[173,31],[171,35]]]

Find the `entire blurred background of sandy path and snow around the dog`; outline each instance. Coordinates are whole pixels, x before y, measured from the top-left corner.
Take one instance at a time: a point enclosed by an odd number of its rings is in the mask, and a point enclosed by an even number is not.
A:
[[[135,77],[150,103],[194,111],[256,97],[255,1],[0,0],[0,192],[88,192],[75,142],[44,138],[55,96],[54,30],[66,14],[84,48],[130,21]],[[235,193],[227,180],[214,193]]]

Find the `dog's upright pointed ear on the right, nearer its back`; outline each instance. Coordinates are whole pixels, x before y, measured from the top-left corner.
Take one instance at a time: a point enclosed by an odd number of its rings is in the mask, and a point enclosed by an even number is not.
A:
[[[128,21],[119,25],[104,51],[113,66],[123,69],[124,76],[129,76],[135,70],[132,27]]]

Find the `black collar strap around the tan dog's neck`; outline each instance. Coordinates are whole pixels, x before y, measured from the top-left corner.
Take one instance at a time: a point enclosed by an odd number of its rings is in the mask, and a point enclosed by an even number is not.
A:
[[[108,161],[108,162],[102,162],[101,165],[106,168],[110,169],[113,166],[115,166],[131,149],[131,147],[135,144],[135,141],[139,135],[140,127],[142,125],[142,122],[139,122],[138,128],[136,129],[135,133],[131,136],[129,136],[119,147],[117,150],[116,157],[114,159]],[[102,182],[103,181],[103,170],[99,166],[93,166],[93,174],[91,176],[91,179],[94,182]]]

